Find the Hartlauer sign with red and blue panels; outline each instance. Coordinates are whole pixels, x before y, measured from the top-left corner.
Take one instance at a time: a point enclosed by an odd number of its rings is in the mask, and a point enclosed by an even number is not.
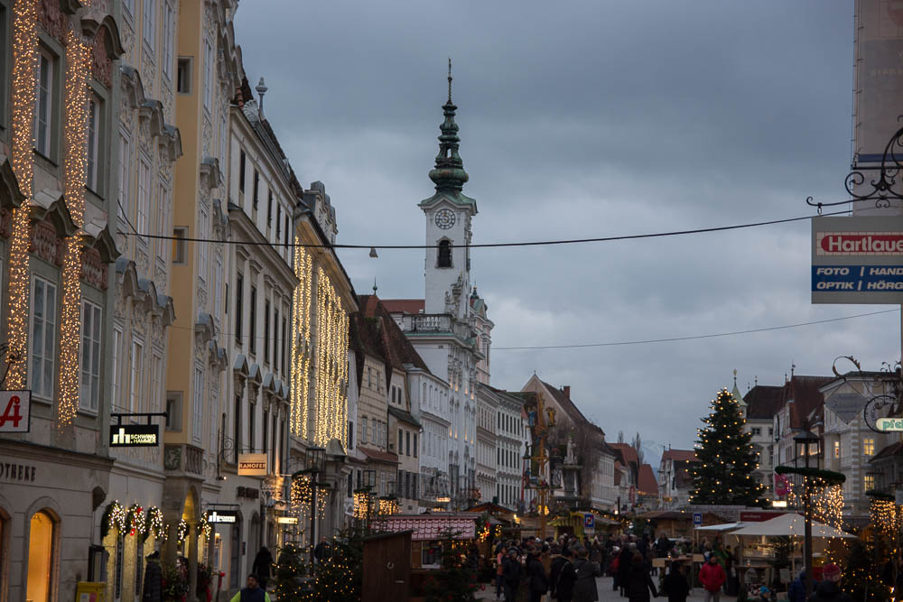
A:
[[[812,220],[813,303],[903,303],[903,217]]]

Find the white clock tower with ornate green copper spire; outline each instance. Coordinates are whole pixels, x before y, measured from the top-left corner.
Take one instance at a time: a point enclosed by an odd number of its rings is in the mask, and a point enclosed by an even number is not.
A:
[[[439,154],[430,171],[436,192],[420,201],[426,218],[426,292],[424,313],[451,314],[458,320],[468,316],[470,297],[470,220],[477,214],[477,201],[461,192],[468,181],[458,153],[461,138],[454,121],[452,60],[449,60],[449,97],[442,106],[445,120],[439,129]]]

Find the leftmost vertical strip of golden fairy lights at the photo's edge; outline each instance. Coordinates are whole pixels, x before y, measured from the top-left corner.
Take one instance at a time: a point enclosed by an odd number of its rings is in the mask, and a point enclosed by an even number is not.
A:
[[[9,249],[9,311],[7,332],[10,369],[6,387],[25,386],[28,348],[28,206],[33,194],[34,77],[38,60],[38,0],[13,3],[13,147],[12,164],[23,206],[13,210]]]

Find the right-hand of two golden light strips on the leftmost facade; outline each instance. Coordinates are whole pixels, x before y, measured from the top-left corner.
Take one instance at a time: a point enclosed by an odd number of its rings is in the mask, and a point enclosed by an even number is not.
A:
[[[84,226],[88,153],[88,70],[90,48],[69,32],[66,45],[66,88],[63,178],[66,207],[75,226]],[[69,426],[79,408],[79,334],[81,330],[81,236],[66,239],[62,264],[60,328],[60,403],[57,426]]]

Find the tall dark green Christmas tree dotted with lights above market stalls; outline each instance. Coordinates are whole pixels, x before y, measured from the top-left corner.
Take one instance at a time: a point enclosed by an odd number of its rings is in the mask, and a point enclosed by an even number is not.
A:
[[[759,468],[752,435],[743,432],[746,421],[740,404],[727,389],[712,401],[712,413],[698,431],[693,472],[693,504],[765,504],[764,487],[750,477]]]

